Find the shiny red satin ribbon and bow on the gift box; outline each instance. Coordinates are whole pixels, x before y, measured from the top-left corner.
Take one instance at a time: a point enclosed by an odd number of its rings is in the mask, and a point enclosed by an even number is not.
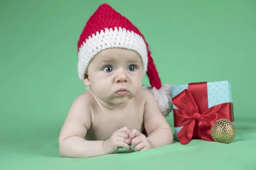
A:
[[[172,99],[179,109],[173,109],[174,126],[180,127],[177,137],[181,144],[187,144],[191,139],[214,141],[210,130],[218,119],[234,121],[233,103],[226,102],[208,108],[207,82],[190,83]]]

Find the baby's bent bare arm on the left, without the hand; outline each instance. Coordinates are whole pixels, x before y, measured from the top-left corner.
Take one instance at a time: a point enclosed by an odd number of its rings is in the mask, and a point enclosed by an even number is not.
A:
[[[105,155],[104,141],[84,139],[91,125],[90,96],[81,95],[73,102],[59,136],[62,157],[85,158]]]

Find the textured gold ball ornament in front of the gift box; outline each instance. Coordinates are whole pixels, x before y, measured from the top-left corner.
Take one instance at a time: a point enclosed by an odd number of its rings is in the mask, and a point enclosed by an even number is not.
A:
[[[228,144],[235,139],[236,127],[227,119],[219,119],[212,124],[211,136],[215,142]]]

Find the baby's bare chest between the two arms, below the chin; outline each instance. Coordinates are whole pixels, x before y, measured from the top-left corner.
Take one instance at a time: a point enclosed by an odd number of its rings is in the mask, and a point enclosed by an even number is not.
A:
[[[91,126],[87,130],[87,140],[107,140],[111,134],[121,127],[143,130],[143,113],[145,100],[137,95],[119,110],[109,110],[95,100],[91,108]]]

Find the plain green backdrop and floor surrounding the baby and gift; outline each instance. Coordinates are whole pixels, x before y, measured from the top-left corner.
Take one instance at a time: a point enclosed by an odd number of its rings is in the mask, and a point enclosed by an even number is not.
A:
[[[104,2],[145,35],[163,84],[230,81],[232,143],[192,140],[90,159],[59,156],[61,126],[86,90],[77,75],[76,43]],[[253,169],[255,8],[254,0],[1,1],[0,169]],[[147,77],[143,84],[149,85]],[[174,131],[172,113],[166,119]]]

